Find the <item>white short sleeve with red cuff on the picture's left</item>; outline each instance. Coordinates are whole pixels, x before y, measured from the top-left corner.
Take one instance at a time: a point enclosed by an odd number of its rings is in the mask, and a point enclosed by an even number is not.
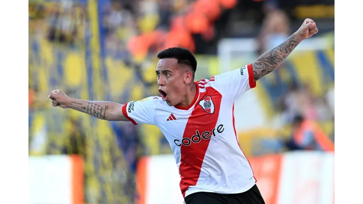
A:
[[[122,113],[132,124],[155,125],[154,99],[149,97],[140,101],[126,103],[122,107]]]

